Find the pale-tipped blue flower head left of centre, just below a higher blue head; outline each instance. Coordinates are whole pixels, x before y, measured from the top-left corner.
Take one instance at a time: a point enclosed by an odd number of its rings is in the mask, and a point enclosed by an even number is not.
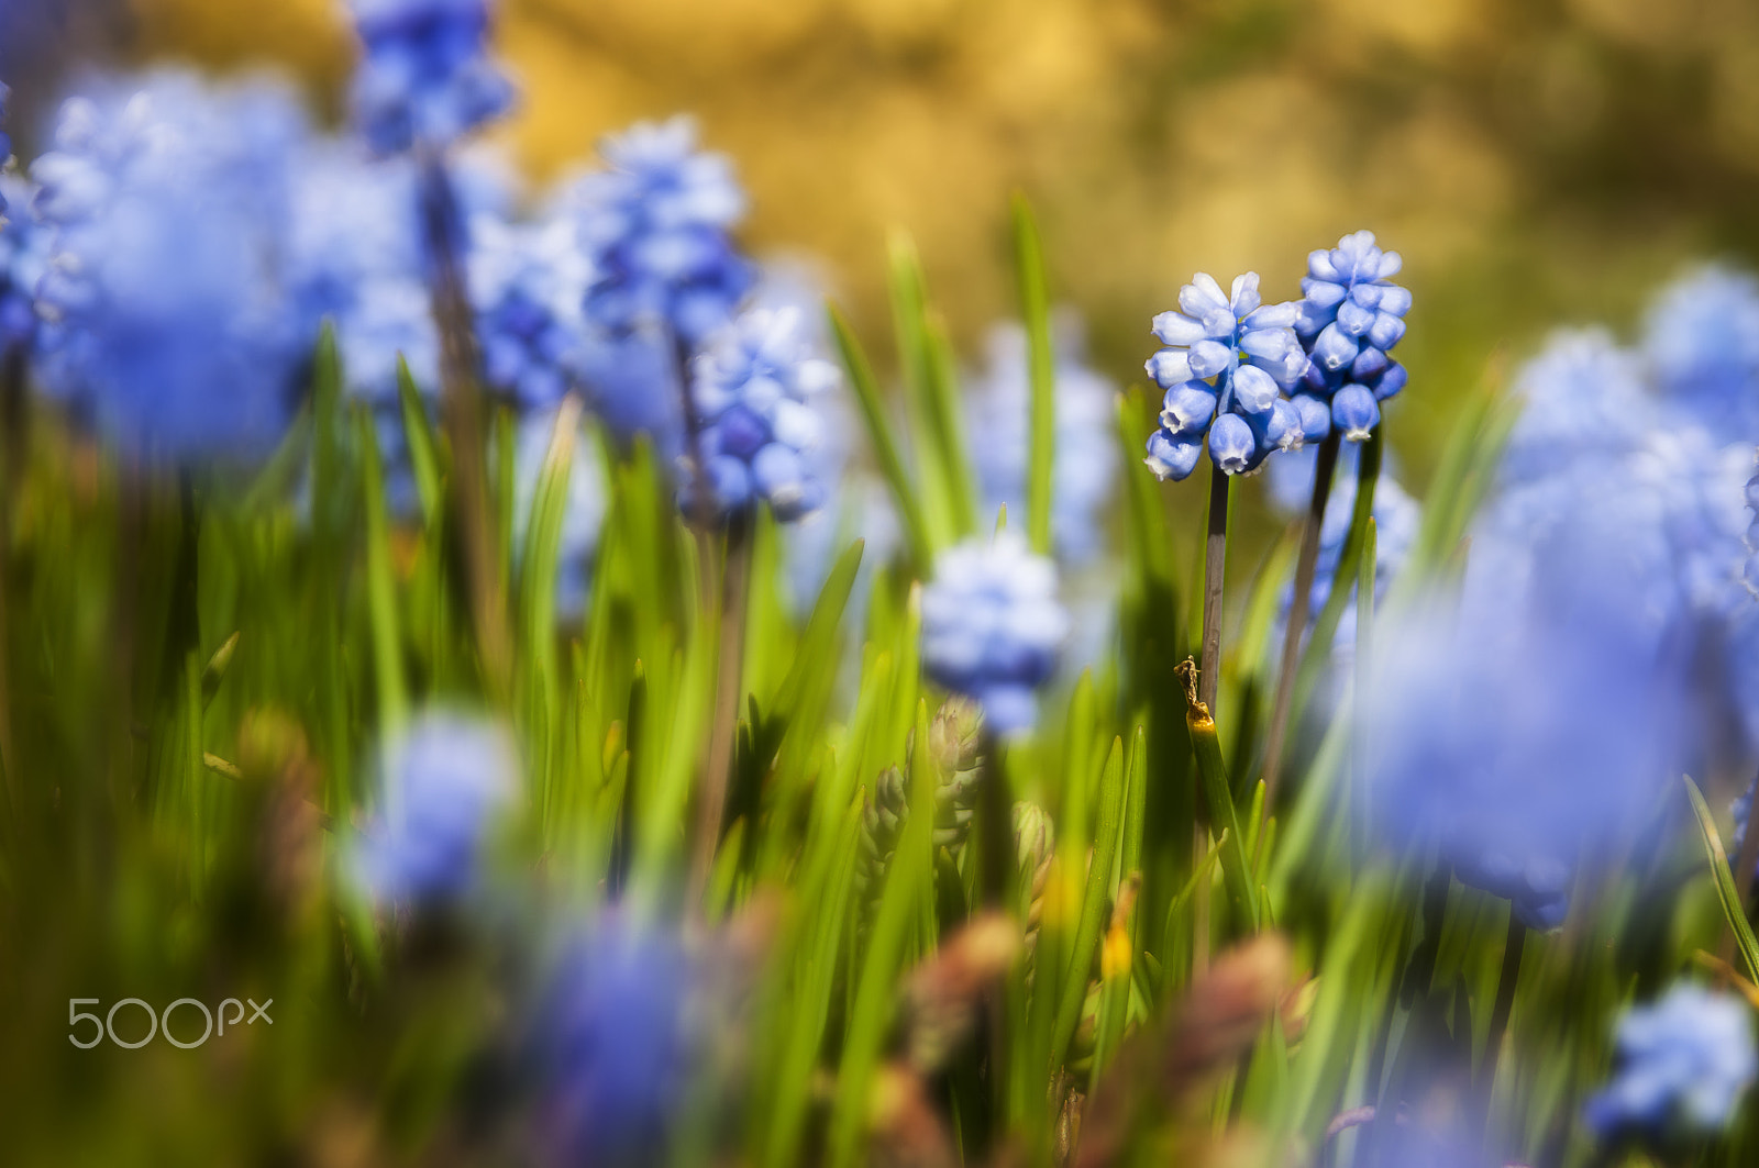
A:
[[[763,500],[786,521],[823,503],[811,457],[821,440],[813,399],[836,383],[836,366],[811,355],[792,308],[751,310],[697,355],[690,392],[721,514]]]

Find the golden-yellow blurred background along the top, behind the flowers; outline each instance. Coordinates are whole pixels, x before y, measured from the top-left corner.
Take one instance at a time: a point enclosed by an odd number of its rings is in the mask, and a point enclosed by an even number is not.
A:
[[[128,55],[278,60],[338,107],[343,0],[134,18]],[[691,111],[753,250],[823,257],[876,348],[890,227],[967,352],[1011,311],[1015,188],[1120,380],[1193,271],[1293,297],[1310,248],[1370,227],[1416,292],[1416,485],[1492,350],[1629,327],[1685,262],[1759,257],[1750,0],[503,0],[498,42],[524,93],[498,134],[535,178]]]

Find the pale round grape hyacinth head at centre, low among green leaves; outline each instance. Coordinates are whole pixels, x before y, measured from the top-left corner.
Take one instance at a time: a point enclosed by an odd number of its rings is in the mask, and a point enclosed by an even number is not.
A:
[[[982,702],[997,734],[1038,723],[1038,686],[1055,670],[1068,630],[1055,565],[1011,531],[941,552],[922,589],[923,670]]]

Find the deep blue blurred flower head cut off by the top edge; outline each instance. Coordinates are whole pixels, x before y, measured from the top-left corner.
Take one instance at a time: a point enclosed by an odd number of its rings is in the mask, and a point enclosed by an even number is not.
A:
[[[380,153],[447,148],[514,104],[489,60],[489,0],[352,0],[354,120]]]

